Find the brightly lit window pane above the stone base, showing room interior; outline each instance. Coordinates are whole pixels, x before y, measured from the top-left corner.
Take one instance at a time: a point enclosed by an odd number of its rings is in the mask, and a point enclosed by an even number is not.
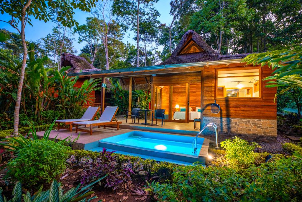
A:
[[[259,98],[260,74],[257,69],[218,70],[217,98]]]

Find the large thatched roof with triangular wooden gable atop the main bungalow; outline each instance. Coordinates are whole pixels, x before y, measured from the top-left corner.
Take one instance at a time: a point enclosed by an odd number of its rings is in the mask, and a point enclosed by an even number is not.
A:
[[[211,48],[194,30],[188,30],[172,52],[171,56],[159,65],[230,60],[244,58],[248,54],[220,55]]]

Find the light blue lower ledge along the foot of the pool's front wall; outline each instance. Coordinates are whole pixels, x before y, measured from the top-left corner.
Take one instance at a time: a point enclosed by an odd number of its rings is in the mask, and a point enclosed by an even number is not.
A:
[[[93,149],[90,149],[90,150],[100,152],[100,151],[103,151],[103,147],[96,147],[96,148],[93,148]],[[147,156],[147,155],[135,154],[135,153],[112,150],[112,149],[108,149],[108,151],[115,151],[115,153],[117,153],[117,154],[130,155],[130,156],[139,156],[139,157],[144,158],[144,159],[153,159],[155,161],[169,162],[169,163],[178,164],[178,165],[186,165],[186,166],[187,165],[192,165],[191,162],[186,162],[186,161],[178,161],[178,160],[172,160],[172,159],[168,159],[168,158],[150,157],[150,156]]]

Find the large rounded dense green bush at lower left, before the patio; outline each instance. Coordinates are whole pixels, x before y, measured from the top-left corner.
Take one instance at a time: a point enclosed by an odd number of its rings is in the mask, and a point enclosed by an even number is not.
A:
[[[8,162],[8,176],[26,186],[50,183],[66,169],[68,147],[49,140],[34,140]]]

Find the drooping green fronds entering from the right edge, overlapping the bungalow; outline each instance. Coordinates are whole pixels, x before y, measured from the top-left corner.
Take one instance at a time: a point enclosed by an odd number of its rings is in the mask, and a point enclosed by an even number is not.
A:
[[[253,65],[268,65],[274,70],[271,76],[264,78],[264,81],[268,81],[266,87],[278,88],[275,98],[278,95],[290,98],[296,104],[299,119],[302,118],[302,49],[254,53],[243,61]]]

